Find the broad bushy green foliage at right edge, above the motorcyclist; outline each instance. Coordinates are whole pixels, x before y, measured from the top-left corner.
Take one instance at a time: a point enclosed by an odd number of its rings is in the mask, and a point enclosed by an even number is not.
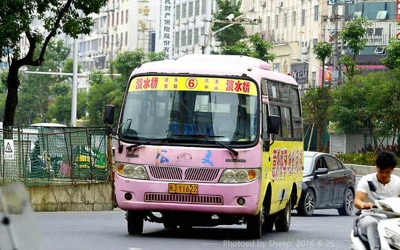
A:
[[[399,133],[399,79],[400,70],[392,70],[357,76],[341,84],[330,108],[332,122],[346,133],[360,128],[367,128],[372,137]]]

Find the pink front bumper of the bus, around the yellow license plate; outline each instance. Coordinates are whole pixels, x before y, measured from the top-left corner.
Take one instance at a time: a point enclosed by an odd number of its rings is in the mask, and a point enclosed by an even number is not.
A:
[[[168,184],[197,184],[197,194],[168,193]],[[123,210],[190,211],[254,215],[259,205],[260,178],[248,183],[192,183],[133,180],[115,175],[117,204]],[[243,202],[244,204],[239,204]]]

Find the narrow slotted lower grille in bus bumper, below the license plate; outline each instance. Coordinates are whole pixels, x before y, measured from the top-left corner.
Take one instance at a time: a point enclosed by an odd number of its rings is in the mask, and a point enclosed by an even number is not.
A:
[[[186,204],[222,205],[221,196],[214,195],[185,195],[176,193],[146,193],[145,202],[170,202]]]

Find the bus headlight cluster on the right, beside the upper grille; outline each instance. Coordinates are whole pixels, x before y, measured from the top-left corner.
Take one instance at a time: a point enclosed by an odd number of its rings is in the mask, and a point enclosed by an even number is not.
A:
[[[260,177],[261,169],[225,169],[219,178],[220,183],[252,182]]]

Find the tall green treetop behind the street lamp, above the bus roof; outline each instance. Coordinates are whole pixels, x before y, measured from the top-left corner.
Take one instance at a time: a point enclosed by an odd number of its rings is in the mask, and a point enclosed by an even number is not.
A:
[[[241,0],[237,1],[232,5],[232,1],[230,0],[216,0],[217,6],[219,10],[217,12],[212,13],[212,19],[214,20],[225,20],[228,15],[233,14],[234,17],[239,17],[243,14],[240,11]],[[216,31],[225,26],[228,26],[229,23],[214,23],[212,25],[212,30]],[[235,24],[222,30],[217,35],[215,35],[217,40],[221,43],[221,47],[223,46],[234,46],[241,39],[247,37],[246,29],[240,24]],[[227,54],[227,55],[243,55],[243,54]]]

